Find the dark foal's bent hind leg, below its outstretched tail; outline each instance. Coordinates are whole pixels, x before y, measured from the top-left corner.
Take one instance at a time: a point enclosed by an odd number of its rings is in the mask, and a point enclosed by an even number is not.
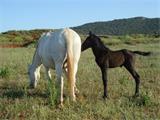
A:
[[[124,66],[131,73],[133,78],[135,79],[135,82],[136,82],[135,96],[139,96],[140,76],[135,71],[134,66],[131,65],[130,63],[129,64],[125,64]]]

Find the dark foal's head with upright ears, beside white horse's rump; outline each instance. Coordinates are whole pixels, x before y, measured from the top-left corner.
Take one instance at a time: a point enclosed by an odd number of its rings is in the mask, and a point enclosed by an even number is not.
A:
[[[101,47],[101,40],[98,36],[94,35],[93,33],[89,32],[89,36],[86,40],[82,43],[81,51],[84,51],[88,48],[93,47]]]

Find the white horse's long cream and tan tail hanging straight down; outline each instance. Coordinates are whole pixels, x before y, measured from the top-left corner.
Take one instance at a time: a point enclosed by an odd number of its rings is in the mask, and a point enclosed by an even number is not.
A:
[[[74,58],[73,58],[73,40],[71,39],[71,33],[66,30],[66,43],[67,43],[67,70],[68,70],[68,82],[70,94],[73,97],[74,94]]]

